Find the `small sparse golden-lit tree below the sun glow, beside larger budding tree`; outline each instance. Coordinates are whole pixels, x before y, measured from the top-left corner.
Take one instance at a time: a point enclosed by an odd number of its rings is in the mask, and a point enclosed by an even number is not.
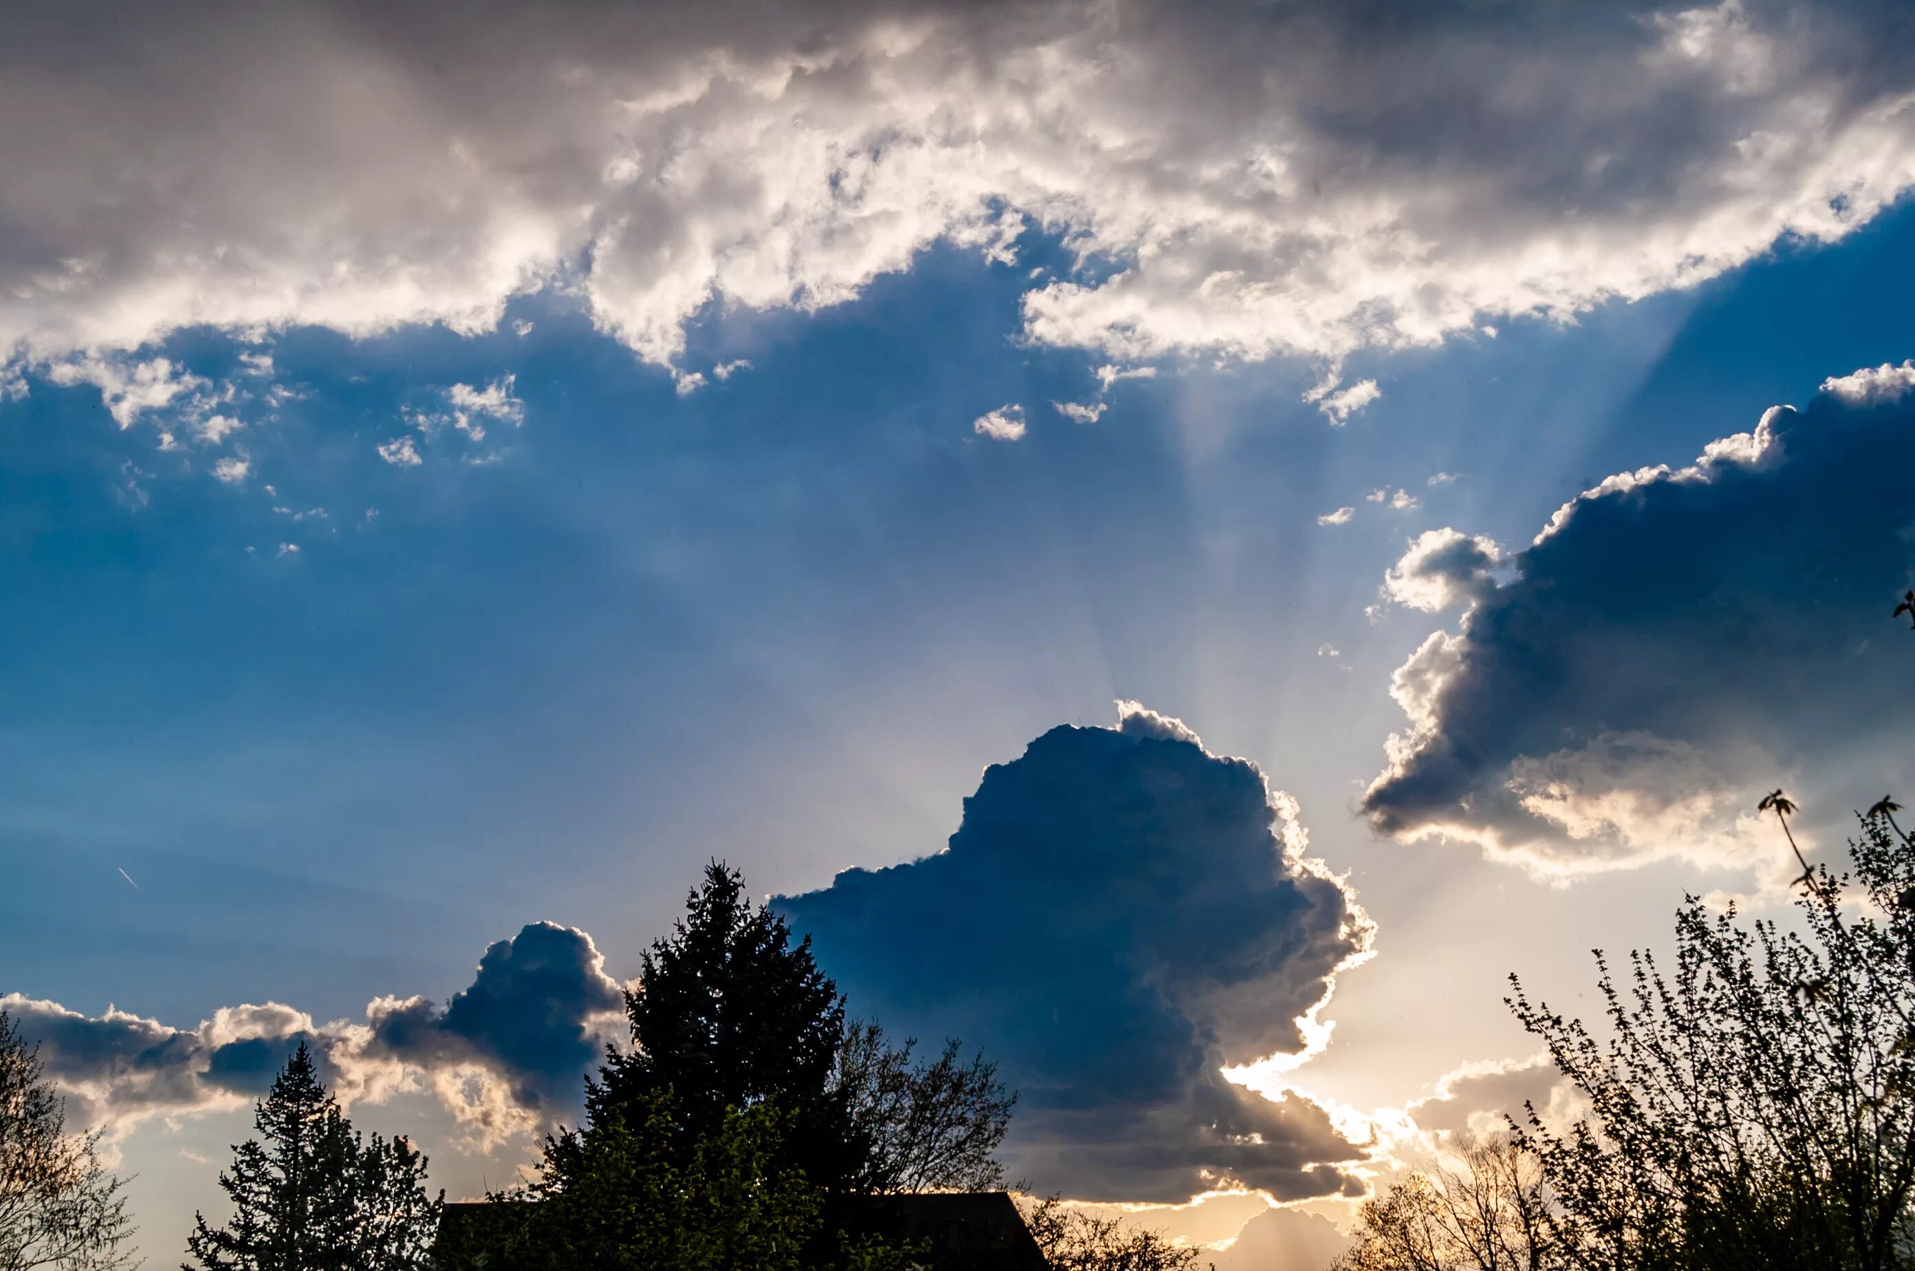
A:
[[[1365,1200],[1337,1271],[1545,1271],[1563,1265],[1542,1162],[1509,1135],[1459,1133],[1446,1160]]]

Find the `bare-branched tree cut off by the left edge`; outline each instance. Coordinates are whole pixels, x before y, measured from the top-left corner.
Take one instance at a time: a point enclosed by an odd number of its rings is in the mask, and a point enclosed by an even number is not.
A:
[[[69,1135],[38,1047],[0,1011],[0,1271],[132,1265],[124,1187],[100,1164],[100,1135]]]

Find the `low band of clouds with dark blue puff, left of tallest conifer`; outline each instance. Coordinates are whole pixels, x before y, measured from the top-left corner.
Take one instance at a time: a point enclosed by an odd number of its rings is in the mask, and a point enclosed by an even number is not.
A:
[[[86,1016],[21,993],[0,997],[21,1036],[40,1045],[75,1122],[113,1141],[153,1116],[245,1106],[306,1041],[343,1104],[429,1089],[490,1145],[576,1110],[599,1037],[622,1005],[592,938],[552,923],[486,949],[473,984],[444,1009],[379,997],[364,1022],[320,1024],[262,1003],[170,1028],[111,1007]]]

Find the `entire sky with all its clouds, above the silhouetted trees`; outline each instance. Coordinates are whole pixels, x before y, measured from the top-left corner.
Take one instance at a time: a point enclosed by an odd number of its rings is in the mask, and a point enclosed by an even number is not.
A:
[[[0,1005],[142,1252],[301,1037],[509,1183],[712,858],[1222,1271],[1561,1106],[1511,970],[1911,789],[1911,23],[10,15]]]

